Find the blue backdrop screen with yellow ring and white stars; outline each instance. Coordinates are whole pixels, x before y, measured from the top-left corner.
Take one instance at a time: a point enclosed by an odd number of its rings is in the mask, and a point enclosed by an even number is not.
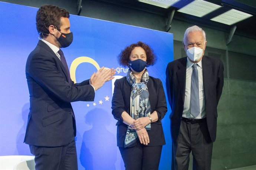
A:
[[[0,156],[31,155],[23,143],[29,113],[25,65],[36,47],[38,8],[0,2]],[[125,24],[70,16],[73,43],[64,48],[73,81],[89,79],[99,67],[116,68],[115,79],[127,74],[117,56],[127,45],[142,41],[152,47],[157,62],[148,68],[165,88],[165,68],[173,61],[173,34]],[[111,114],[114,81],[96,91],[94,102],[72,103],[76,115],[79,169],[119,170],[124,163],[116,146],[116,120]],[[166,145],[159,169],[171,169],[170,107],[162,120]]]

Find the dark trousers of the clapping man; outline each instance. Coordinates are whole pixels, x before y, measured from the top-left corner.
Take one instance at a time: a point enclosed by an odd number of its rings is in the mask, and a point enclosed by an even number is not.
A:
[[[77,170],[75,139],[68,145],[45,147],[29,145],[35,155],[36,170]]]

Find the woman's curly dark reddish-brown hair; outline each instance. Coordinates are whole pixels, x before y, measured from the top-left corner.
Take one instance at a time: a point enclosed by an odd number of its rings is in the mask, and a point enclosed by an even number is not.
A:
[[[153,52],[153,50],[150,48],[150,46],[148,46],[147,44],[139,41],[136,44],[131,44],[128,47],[126,47],[124,50],[121,51],[121,53],[118,55],[117,59],[118,59],[118,63],[124,67],[128,67],[129,66],[129,57],[131,55],[132,50],[135,47],[141,47],[145,50],[146,55],[147,55],[147,67],[150,65],[154,65],[155,61],[156,61],[156,57],[155,54]]]

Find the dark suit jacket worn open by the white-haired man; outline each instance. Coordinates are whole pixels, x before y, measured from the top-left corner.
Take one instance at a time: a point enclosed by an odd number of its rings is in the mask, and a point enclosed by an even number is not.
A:
[[[203,87],[207,127],[211,141],[216,139],[217,105],[220,100],[224,78],[223,64],[219,59],[203,56]],[[173,141],[178,137],[184,107],[186,88],[187,57],[170,62],[166,69],[166,88],[171,106],[171,135]]]

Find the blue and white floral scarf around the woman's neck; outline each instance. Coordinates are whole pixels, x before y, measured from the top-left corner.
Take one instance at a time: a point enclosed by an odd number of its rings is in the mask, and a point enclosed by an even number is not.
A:
[[[135,120],[138,118],[146,117],[150,115],[151,107],[150,102],[148,100],[149,92],[148,92],[148,80],[149,75],[147,69],[145,69],[144,73],[141,76],[141,82],[137,83],[135,76],[133,75],[131,69],[128,70],[126,79],[128,83],[132,86],[131,97],[130,97],[130,116]],[[146,130],[150,130],[151,125],[148,124],[145,126]],[[138,135],[134,129],[131,129],[128,126],[124,147],[128,147],[136,142],[138,139]]]

